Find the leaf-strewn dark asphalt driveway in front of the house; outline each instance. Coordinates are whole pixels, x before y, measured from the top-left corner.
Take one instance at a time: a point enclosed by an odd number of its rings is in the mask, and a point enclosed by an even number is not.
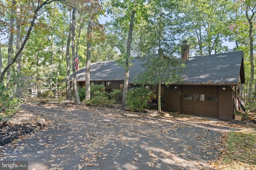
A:
[[[23,105],[46,126],[1,149],[29,170],[210,169],[222,133],[237,129],[200,117],[148,117],[109,109]]]

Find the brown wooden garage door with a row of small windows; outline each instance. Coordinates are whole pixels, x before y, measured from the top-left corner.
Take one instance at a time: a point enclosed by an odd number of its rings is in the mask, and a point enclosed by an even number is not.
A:
[[[218,86],[183,86],[182,113],[218,118]]]

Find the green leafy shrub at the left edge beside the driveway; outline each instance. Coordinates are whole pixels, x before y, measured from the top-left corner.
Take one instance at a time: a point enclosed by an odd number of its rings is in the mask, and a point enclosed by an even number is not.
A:
[[[0,120],[16,113],[22,103],[22,100],[13,96],[15,94],[11,88],[6,88],[0,84]]]

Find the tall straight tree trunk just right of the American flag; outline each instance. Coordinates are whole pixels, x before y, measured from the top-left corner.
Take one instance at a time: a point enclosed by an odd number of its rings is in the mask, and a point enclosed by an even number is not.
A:
[[[91,65],[91,53],[92,53],[92,20],[88,20],[87,28],[87,51],[86,51],[86,76],[85,76],[85,100],[90,101],[91,88],[90,88],[90,65]]]

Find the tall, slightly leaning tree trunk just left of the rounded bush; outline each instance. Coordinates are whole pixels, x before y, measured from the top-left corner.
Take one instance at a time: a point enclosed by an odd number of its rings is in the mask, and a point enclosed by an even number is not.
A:
[[[128,84],[129,84],[129,72],[130,72],[130,57],[131,57],[131,44],[132,44],[132,32],[134,29],[134,18],[135,18],[135,10],[132,10],[131,18],[130,18],[130,26],[128,32],[128,40],[127,40],[127,49],[126,49],[126,62],[125,62],[125,72],[124,72],[124,90],[122,97],[122,106],[126,105],[127,101],[127,92],[128,92]]]

